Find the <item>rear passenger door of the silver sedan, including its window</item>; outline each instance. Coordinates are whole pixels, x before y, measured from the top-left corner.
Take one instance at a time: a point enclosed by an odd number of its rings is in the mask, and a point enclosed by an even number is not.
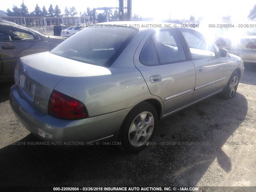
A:
[[[150,93],[163,100],[165,114],[190,102],[196,82],[195,68],[186,58],[176,29],[149,32],[138,46],[134,63]]]

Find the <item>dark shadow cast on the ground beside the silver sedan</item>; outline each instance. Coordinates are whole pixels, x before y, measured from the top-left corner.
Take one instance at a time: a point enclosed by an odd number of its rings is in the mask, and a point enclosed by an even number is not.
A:
[[[232,162],[222,146],[247,114],[247,100],[208,98],[158,124],[138,154],[116,146],[45,146],[31,134],[0,149],[1,186],[196,186],[217,159]],[[62,144],[63,145],[63,144]]]

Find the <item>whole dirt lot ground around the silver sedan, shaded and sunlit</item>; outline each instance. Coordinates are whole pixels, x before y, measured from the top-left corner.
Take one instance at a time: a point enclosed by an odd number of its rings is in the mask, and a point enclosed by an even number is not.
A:
[[[14,116],[11,86],[0,84],[0,186],[256,186],[256,70],[232,100],[214,96],[162,120],[139,154],[31,145],[40,140]]]

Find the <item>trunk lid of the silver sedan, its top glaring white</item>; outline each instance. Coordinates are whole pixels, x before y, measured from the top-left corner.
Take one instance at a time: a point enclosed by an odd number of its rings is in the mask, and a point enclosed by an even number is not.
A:
[[[79,76],[99,76],[110,72],[101,66],[43,52],[22,57],[18,73],[16,83],[19,86],[20,95],[35,108],[47,114],[52,90],[63,78],[78,74]]]

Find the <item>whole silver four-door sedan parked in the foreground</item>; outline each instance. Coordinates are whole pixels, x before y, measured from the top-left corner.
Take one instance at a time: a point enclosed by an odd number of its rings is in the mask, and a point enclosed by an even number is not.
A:
[[[136,152],[160,119],[215,94],[235,96],[240,57],[194,29],[143,25],[96,24],[20,58],[10,90],[20,122],[44,139],[112,138]]]

